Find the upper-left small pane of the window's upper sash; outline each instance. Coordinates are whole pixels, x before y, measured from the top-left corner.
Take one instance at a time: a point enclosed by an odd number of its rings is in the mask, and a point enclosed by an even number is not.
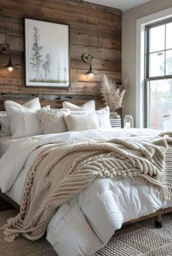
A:
[[[165,49],[165,25],[150,28],[149,53]]]

